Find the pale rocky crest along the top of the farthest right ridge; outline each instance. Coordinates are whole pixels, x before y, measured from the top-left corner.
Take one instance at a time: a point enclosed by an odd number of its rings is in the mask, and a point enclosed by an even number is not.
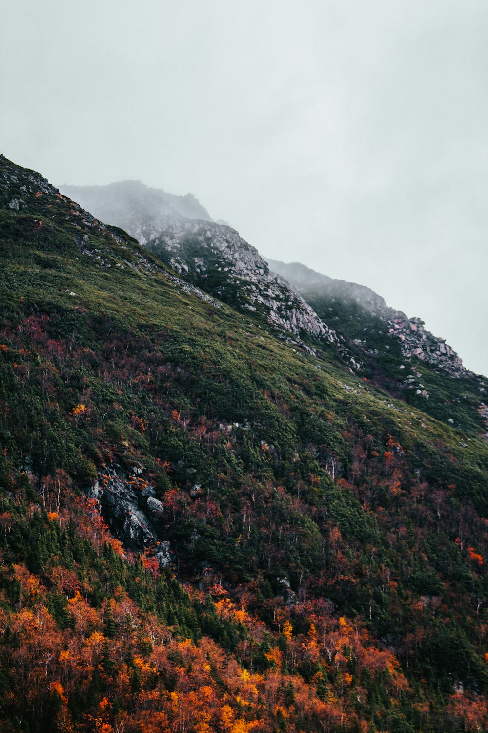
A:
[[[402,311],[389,308],[384,299],[369,287],[345,280],[334,280],[316,273],[298,262],[285,264],[268,259],[272,271],[288,279],[299,292],[326,292],[342,301],[354,301],[365,311],[378,316],[388,326],[388,334],[399,339],[402,355],[406,360],[416,356],[453,377],[465,376],[468,371],[462,366],[457,353],[446,344],[445,339],[434,336],[424,328],[424,321],[408,318]]]

